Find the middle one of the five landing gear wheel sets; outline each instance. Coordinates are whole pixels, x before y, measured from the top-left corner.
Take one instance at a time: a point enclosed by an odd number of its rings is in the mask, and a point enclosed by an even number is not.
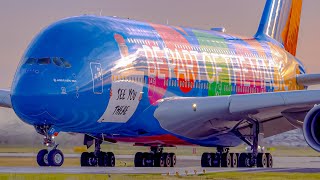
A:
[[[151,147],[150,152],[137,152],[135,167],[175,167],[177,158],[174,153],[162,152],[163,147]]]

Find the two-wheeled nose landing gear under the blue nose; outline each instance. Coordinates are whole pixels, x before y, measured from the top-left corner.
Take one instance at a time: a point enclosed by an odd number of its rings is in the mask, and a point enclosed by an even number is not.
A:
[[[63,153],[57,149],[59,144],[54,141],[55,135],[49,133],[50,126],[36,126],[39,134],[44,135],[43,144],[47,149],[38,152],[37,163],[39,166],[62,166],[64,162]]]

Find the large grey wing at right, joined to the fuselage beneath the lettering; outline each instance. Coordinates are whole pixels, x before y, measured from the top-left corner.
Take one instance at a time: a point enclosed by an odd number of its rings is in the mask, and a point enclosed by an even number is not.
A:
[[[320,90],[162,99],[154,112],[162,128],[191,139],[237,129],[250,132],[249,116],[264,137],[301,128],[308,111],[320,103]]]

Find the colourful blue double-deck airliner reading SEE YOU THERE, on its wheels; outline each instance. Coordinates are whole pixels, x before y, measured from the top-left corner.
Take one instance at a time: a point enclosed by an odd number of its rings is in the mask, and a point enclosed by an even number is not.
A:
[[[173,167],[165,147],[198,145],[203,167],[272,167],[259,139],[303,128],[320,151],[320,75],[295,57],[302,0],[267,0],[255,36],[79,16],[39,33],[1,106],[43,135],[40,166],[61,166],[59,132],[84,134],[81,166],[114,166],[103,141],[149,146],[136,167]],[[248,153],[229,147],[243,143]]]

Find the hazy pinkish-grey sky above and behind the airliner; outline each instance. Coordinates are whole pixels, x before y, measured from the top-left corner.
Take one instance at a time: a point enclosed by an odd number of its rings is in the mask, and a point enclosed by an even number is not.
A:
[[[59,19],[83,14],[253,36],[265,0],[1,0],[0,88],[11,87],[21,56],[39,31]],[[309,73],[320,73],[320,1],[304,0],[297,57]]]

